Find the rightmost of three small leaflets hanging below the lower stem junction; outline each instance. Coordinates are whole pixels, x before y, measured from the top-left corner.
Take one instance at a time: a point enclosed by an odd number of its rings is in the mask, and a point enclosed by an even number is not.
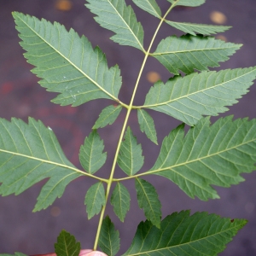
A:
[[[146,218],[156,227],[160,228],[161,204],[154,186],[142,178],[135,179],[135,186],[139,207],[143,208]]]

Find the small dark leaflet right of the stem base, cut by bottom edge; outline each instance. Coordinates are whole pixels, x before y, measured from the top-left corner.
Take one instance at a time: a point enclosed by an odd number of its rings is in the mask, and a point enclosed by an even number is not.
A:
[[[99,238],[99,247],[108,256],[114,256],[119,252],[120,238],[119,231],[114,230],[111,219],[107,216],[103,219],[102,230]]]

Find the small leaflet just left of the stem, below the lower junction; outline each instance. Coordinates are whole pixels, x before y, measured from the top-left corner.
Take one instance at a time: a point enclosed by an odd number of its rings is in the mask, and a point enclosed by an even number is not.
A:
[[[88,213],[89,219],[101,212],[102,207],[106,204],[105,189],[101,182],[92,185],[88,189],[84,204],[86,205],[86,212]]]

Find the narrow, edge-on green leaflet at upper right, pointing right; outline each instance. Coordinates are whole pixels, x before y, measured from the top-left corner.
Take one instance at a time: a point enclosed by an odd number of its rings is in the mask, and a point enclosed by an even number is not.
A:
[[[206,25],[206,24],[195,24],[186,22],[175,22],[171,20],[166,20],[166,23],[170,26],[177,28],[185,33],[189,33],[196,36],[195,33],[202,35],[211,35],[219,32],[224,32],[230,29],[232,26],[216,26],[216,25]]]

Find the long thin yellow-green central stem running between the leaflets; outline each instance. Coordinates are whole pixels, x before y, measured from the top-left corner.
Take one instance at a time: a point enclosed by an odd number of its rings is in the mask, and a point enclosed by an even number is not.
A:
[[[167,10],[166,15],[168,15],[170,13],[170,11],[172,10],[173,7],[174,6],[172,5],[172,7]],[[129,107],[127,108],[127,113],[126,113],[126,116],[125,116],[125,121],[124,121],[123,129],[122,129],[122,131],[120,133],[119,143],[118,143],[118,146],[116,148],[116,152],[115,152],[114,159],[113,159],[112,170],[111,170],[111,173],[110,173],[110,177],[108,179],[108,186],[107,186],[107,191],[106,191],[106,204],[107,204],[107,201],[108,201],[109,191],[110,191],[111,185],[113,183],[113,174],[114,174],[115,166],[116,166],[116,163],[117,163],[117,160],[118,160],[119,149],[120,149],[120,146],[121,146],[121,143],[122,143],[122,139],[123,139],[123,137],[125,135],[126,125],[127,125],[128,119],[130,117],[130,113],[131,113],[131,109],[132,109],[132,104],[133,104],[133,101],[134,101],[134,98],[135,98],[135,95],[136,95],[136,92],[137,92],[137,86],[138,86],[139,81],[140,81],[140,79],[142,77],[143,69],[144,69],[146,61],[148,59],[148,55],[150,55],[150,50],[151,50],[152,45],[154,43],[154,39],[155,39],[157,33],[160,30],[160,26],[162,25],[162,23],[166,19],[166,15],[164,15],[164,17],[160,20],[160,24],[156,28],[156,30],[154,32],[154,36],[153,36],[153,38],[152,38],[152,40],[151,40],[151,42],[150,42],[150,44],[148,46],[148,51],[145,52],[145,57],[144,57],[144,60],[143,60],[143,64],[142,64],[142,67],[141,67],[140,72],[138,74],[137,82],[135,84],[135,87],[134,87],[134,90],[133,90],[133,93],[132,93],[132,96],[131,96],[131,102],[129,104]],[[99,241],[99,237],[100,237],[100,232],[101,232],[101,228],[102,228],[102,221],[103,221],[103,218],[104,218],[105,210],[106,210],[106,205],[104,207],[102,207],[102,212],[101,212],[101,216],[100,216],[100,219],[99,219],[98,229],[97,229],[97,233],[96,233],[96,240],[95,240],[95,244],[94,244],[94,250],[95,251],[96,251],[96,248],[97,248],[97,245],[98,245],[98,241]]]

